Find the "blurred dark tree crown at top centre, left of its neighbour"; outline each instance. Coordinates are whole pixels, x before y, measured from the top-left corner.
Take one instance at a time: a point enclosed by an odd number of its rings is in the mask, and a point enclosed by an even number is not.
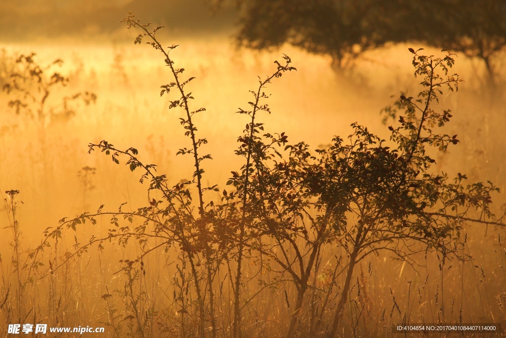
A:
[[[287,42],[307,51],[327,54],[336,68],[349,67],[361,53],[399,42],[393,24],[400,11],[395,2],[372,0],[275,0],[240,2],[238,42],[264,49]]]

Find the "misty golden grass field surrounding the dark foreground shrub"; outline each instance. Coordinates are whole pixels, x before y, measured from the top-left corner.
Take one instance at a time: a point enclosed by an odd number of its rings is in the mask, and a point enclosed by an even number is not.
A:
[[[181,47],[171,53],[176,65],[186,68],[185,75],[196,77],[188,85],[195,97],[192,104],[207,109],[195,116],[194,123],[199,137],[208,140],[203,152],[213,156],[212,162],[205,162],[203,184],[220,187],[218,192],[206,193],[206,198],[218,203],[222,190],[231,189],[226,185],[231,171],[243,165],[234,150],[249,120],[235,112],[251,100],[248,91],[258,87],[257,76],[264,79],[271,73],[273,60],[279,60],[280,54],[236,51],[225,38],[177,43]],[[400,92],[414,96],[419,90],[407,47],[411,46],[371,53],[351,74],[339,74],[324,57],[286,46],[283,52],[290,55],[297,72],[285,74],[266,89],[272,95],[272,114],[259,117],[266,132],[285,132],[289,142],[305,141],[314,149],[331,144],[333,135],[346,138],[353,133],[350,124],[358,122],[388,139],[388,126],[394,122],[384,125],[380,110]],[[48,106],[57,110],[62,97],[76,92],[97,95],[94,104],[76,101],[72,116],[55,116],[41,123],[37,117],[16,115],[8,106],[12,96],[0,93],[0,189],[6,201],[0,206],[0,234],[4,243],[9,243],[0,249],[0,334],[6,334],[8,324],[46,323],[105,327],[106,333],[83,336],[189,337],[202,333],[199,325],[205,326],[206,336],[285,336],[298,290],[275,261],[261,262],[251,253],[245,256],[237,333],[233,328],[235,260],[216,258],[210,262],[204,253],[187,255],[175,243],[165,248],[163,238],[152,238],[144,246],[135,236],[123,245],[104,241],[103,249],[96,243],[76,254],[74,244],[82,246],[91,236],[107,237],[112,227],[109,215],[97,216],[95,225],[87,222],[75,231],[64,231],[52,240],[51,247],[39,252],[35,262],[40,265],[33,270],[30,253],[43,239],[43,232],[48,227],[55,229],[63,217],[94,213],[103,204],[103,211],[114,212],[124,202],[123,210],[136,212],[149,206],[152,199],[163,199],[157,191],[147,192],[148,183],[140,184],[140,173],[131,172],[124,162],[117,166],[99,151],[87,154],[90,142],[105,139],[120,149],[135,147],[139,159],[157,164],[158,173],[165,173],[171,186],[192,179],[194,162],[191,157],[176,156],[190,141],[179,123],[180,112],[168,109],[166,96],[160,98],[160,86],[173,80],[156,51],[133,44],[25,44],[0,49],[2,85],[16,67],[16,55],[36,52],[37,62],[43,65],[63,59],[61,72],[69,77],[67,86],[51,92]],[[492,92],[480,84],[479,65],[462,57],[453,70],[465,82],[458,92],[444,93],[439,106],[453,111],[454,120],[444,127],[444,133],[458,134],[460,143],[446,153],[434,153],[432,170],[448,172],[450,177],[467,173],[469,181],[490,179],[503,191],[506,97],[500,88]],[[10,190],[20,191],[14,200],[5,193]],[[13,201],[18,203],[14,209]],[[496,194],[493,201],[491,207],[500,215],[504,196]],[[119,222],[120,226],[128,225],[128,220]],[[132,227],[142,224],[142,220],[134,220]],[[156,232],[149,228],[155,227],[154,222],[146,226],[148,232]],[[360,261],[338,334],[399,336],[392,333],[391,326],[403,322],[504,326],[506,233],[501,227],[463,222],[463,238],[466,242],[457,256],[469,255],[465,261],[430,250],[414,255],[411,264],[393,260],[388,250]],[[392,245],[403,250],[402,244]],[[155,250],[157,246],[160,248]],[[150,253],[144,256],[147,251]],[[291,259],[295,254],[287,255]],[[293,333],[296,336],[325,336],[345,283],[339,267],[346,267],[346,250],[333,243],[322,247],[318,255],[318,268],[310,277],[312,289],[306,294]],[[193,277],[190,257],[198,264]],[[128,259],[135,264],[125,261]],[[206,275],[208,265],[214,269],[213,278]],[[199,314],[191,284],[195,276],[203,290],[214,287],[210,293],[216,302],[213,316]],[[209,299],[203,302],[207,306]],[[324,306],[326,310],[322,310]]]

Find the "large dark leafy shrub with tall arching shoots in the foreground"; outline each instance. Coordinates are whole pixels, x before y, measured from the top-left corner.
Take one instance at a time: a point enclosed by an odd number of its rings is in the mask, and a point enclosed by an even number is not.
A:
[[[139,29],[135,43],[147,39],[172,72],[172,82],[161,86],[160,95],[177,93],[170,107],[183,111],[180,121],[190,140],[190,146],[178,154],[192,157],[192,179],[172,185],[155,165],[144,164],[134,147],[119,149],[105,140],[91,143],[90,153],[100,150],[114,163],[141,171],[140,181],[148,181],[148,190],[159,192],[161,198],[135,211],[124,211],[123,205],[118,211],[104,211],[102,205],[95,213],[63,218],[46,233],[39,250],[65,228],[75,230],[79,224],[95,224],[99,216],[109,215],[108,234],[85,244],[76,240],[67,259],[113,240],[120,245],[134,241],[140,247],[142,254],[121,261],[126,319],[136,323],[132,334],[155,334],[152,323],[160,315],[141,310],[144,298],[135,285],[144,272],[144,258],[157,250],[178,253],[172,309],[178,316],[171,324],[175,335],[245,336],[251,318],[244,309],[264,290],[284,287],[290,313],[287,327],[280,329],[285,329],[284,336],[334,337],[352,277],[364,258],[387,251],[415,266],[417,253],[433,250],[443,259],[465,259],[456,255],[463,246],[460,231],[465,222],[504,225],[504,215],[495,216],[490,209],[491,195],[498,191],[492,183],[466,184],[465,174],[451,179],[434,172],[431,154],[458,143],[456,135],[439,131],[452,115],[437,107],[444,91],[458,89],[458,76],[448,75],[453,54],[426,56],[422,50],[409,49],[421,91],[417,97],[401,96],[395,103],[399,121],[389,127],[389,140],[354,123],[354,132],[346,140],[335,136],[328,147],[314,151],[305,142],[290,144],[283,132],[266,132],[259,122],[260,114],[271,112],[265,103],[266,86],[296,70],[284,55],[268,77],[259,79],[248,108],[239,110],[250,119],[235,152],[243,165],[231,170],[229,187],[223,189],[202,183],[203,164],[212,158],[202,153],[207,140],[197,136],[194,116],[205,109],[191,108],[193,94],[186,88],[194,78],[184,78],[184,68],[177,68],[170,57],[177,46],[162,47],[155,34],[161,26],[150,30],[150,24],[141,24],[132,13],[122,22]],[[335,256],[335,268],[324,272],[322,261],[331,248],[346,254]],[[269,271],[270,280],[263,278],[264,271]],[[252,281],[258,282],[254,291],[248,287]],[[290,285],[294,302],[287,292]],[[103,298],[107,301],[110,296]],[[308,314],[303,316],[305,306]],[[169,329],[160,325],[161,330]]]

